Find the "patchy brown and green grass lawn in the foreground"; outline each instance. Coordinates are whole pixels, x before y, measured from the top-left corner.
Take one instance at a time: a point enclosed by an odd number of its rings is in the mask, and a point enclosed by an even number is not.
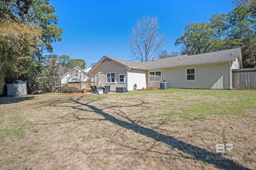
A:
[[[256,91],[1,97],[0,169],[256,169]]]

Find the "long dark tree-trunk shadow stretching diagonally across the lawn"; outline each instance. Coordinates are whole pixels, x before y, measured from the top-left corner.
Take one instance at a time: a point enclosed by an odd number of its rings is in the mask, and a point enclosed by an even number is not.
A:
[[[110,121],[118,126],[134,130],[134,132],[140,133],[144,136],[147,136],[147,137],[153,138],[157,141],[168,144],[169,146],[177,148],[178,150],[181,150],[184,153],[194,155],[195,159],[200,160],[202,162],[208,162],[210,164],[214,164],[217,168],[226,169],[226,170],[230,170],[230,169],[232,169],[232,170],[248,170],[248,168],[245,168],[241,165],[236,164],[233,160],[230,160],[227,157],[225,159],[216,160],[216,156],[221,157],[222,156],[221,154],[209,152],[205,149],[199,148],[197,146],[192,146],[191,144],[188,144],[181,140],[177,140],[176,138],[173,138],[172,136],[167,136],[167,135],[158,133],[150,128],[142,127],[140,125],[137,125],[134,121],[132,121],[130,119],[129,120],[131,121],[131,123],[116,119],[114,116],[109,115],[108,113],[105,113],[104,111],[102,111],[103,109],[98,109],[97,107],[90,105],[90,103],[92,103],[92,101],[90,101],[88,103],[81,103],[78,100],[74,100],[74,99],[71,99],[71,100],[79,105],[89,107],[90,109],[93,110],[94,113],[102,115],[107,121]],[[142,105],[143,103],[144,102],[142,102],[138,105]],[[109,108],[113,108],[113,107],[116,107],[116,106],[107,107],[104,109],[109,109]],[[118,107],[130,107],[130,106],[118,106]],[[75,109],[80,109],[80,108],[76,107]],[[84,111],[84,109],[81,109],[81,110]],[[212,159],[210,159],[210,160],[206,159],[207,156],[212,156],[211,157]],[[215,158],[215,160],[213,158]]]

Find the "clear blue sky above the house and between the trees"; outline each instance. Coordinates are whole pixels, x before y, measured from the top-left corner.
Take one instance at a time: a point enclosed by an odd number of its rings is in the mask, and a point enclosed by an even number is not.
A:
[[[142,16],[155,16],[166,35],[164,49],[180,52],[176,38],[185,25],[208,22],[212,14],[227,13],[232,0],[50,0],[63,29],[62,41],[53,44],[54,53],[97,63],[104,55],[130,60],[126,44],[132,26]]]

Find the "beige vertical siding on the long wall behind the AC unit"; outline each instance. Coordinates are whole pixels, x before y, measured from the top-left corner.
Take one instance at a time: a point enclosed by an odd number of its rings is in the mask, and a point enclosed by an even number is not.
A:
[[[186,68],[196,68],[196,81],[186,81]],[[229,63],[195,65],[162,69],[162,81],[169,88],[181,89],[229,89]],[[148,71],[149,74],[150,71]],[[148,75],[149,76],[149,75]],[[148,87],[160,88],[160,82],[147,82]]]

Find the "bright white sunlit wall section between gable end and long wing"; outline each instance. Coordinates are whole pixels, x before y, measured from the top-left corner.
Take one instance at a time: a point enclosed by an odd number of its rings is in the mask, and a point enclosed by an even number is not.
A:
[[[134,84],[137,89],[147,87],[147,71],[130,69],[128,72],[128,91],[133,90]]]

